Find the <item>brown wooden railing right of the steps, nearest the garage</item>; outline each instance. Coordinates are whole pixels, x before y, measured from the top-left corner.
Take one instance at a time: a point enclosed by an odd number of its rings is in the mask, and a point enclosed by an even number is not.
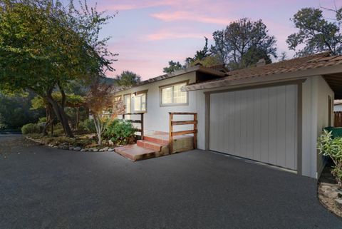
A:
[[[197,113],[189,113],[189,112],[169,112],[170,115],[170,129],[169,129],[169,143],[170,143],[170,153],[173,152],[173,137],[180,136],[185,134],[193,134],[194,135],[194,149],[197,148]],[[174,116],[185,115],[194,116],[191,121],[173,121]],[[173,126],[180,125],[194,125],[193,130],[191,131],[173,131]]]

